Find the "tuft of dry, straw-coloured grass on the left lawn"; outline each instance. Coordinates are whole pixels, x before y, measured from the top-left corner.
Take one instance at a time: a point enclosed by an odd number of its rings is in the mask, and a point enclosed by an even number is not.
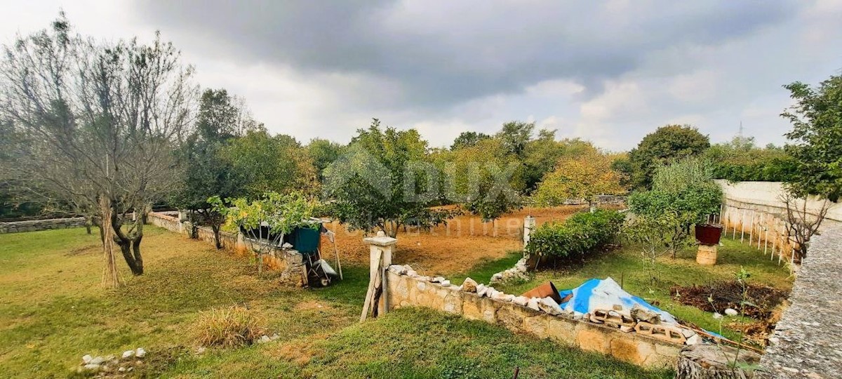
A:
[[[265,332],[265,321],[245,307],[214,308],[201,312],[195,323],[203,346],[242,346],[252,344]]]

